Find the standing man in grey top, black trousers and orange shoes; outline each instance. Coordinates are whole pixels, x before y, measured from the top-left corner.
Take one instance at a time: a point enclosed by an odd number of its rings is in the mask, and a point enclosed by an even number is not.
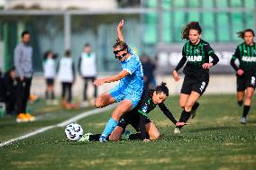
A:
[[[35,117],[26,112],[32,84],[32,46],[29,31],[23,31],[22,42],[14,49],[14,67],[17,81],[16,121],[34,121]]]

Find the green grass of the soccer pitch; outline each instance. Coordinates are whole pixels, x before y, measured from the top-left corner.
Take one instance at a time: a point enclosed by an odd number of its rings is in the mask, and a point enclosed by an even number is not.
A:
[[[150,143],[127,140],[78,144],[65,139],[64,128],[55,128],[0,148],[0,169],[256,169],[256,108],[252,105],[243,126],[239,123],[242,108],[236,105],[234,95],[205,95],[199,102],[196,118],[180,135],[173,134],[173,124],[159,109],[150,117],[161,136]],[[178,96],[171,96],[166,103],[178,118]],[[44,120],[30,123],[28,129],[56,124],[78,112],[45,114]],[[86,132],[100,133],[110,113],[89,116],[78,123]],[[0,121],[1,140],[19,136],[20,131],[15,130],[26,126],[16,124],[7,129],[5,121]],[[7,135],[8,130],[11,135]],[[2,137],[5,135],[8,138]]]

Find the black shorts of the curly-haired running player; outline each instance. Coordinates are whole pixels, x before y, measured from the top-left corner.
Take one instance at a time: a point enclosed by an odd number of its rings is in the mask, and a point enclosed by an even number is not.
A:
[[[208,74],[204,74],[200,77],[186,75],[181,87],[181,94],[191,94],[191,92],[194,91],[202,95],[206,91],[208,83]]]

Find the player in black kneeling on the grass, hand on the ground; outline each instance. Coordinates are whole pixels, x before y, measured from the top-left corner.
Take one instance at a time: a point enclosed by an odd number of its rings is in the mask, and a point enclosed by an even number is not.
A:
[[[160,110],[176,125],[184,125],[184,122],[177,122],[172,113],[164,104],[164,101],[169,96],[169,89],[165,83],[157,85],[154,89],[144,90],[140,103],[131,111],[125,113],[118,122],[112,134],[109,136],[109,140],[117,141],[121,137],[125,139],[142,139],[147,142],[151,139],[158,139],[160,132],[156,128],[155,124],[148,118],[148,113],[151,112],[157,105]],[[127,125],[131,124],[133,128],[141,133],[131,134],[128,130],[125,131]],[[125,132],[124,132],[125,131]],[[123,133],[124,132],[124,133]],[[128,132],[128,133],[127,133]],[[122,136],[123,134],[123,136]],[[85,134],[78,141],[96,141],[99,135],[92,135],[91,133]]]

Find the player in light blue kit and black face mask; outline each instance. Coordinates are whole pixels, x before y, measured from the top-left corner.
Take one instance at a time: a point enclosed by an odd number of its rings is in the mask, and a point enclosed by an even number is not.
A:
[[[94,85],[103,85],[120,80],[110,92],[105,92],[96,98],[97,108],[105,107],[112,103],[119,103],[114,109],[111,118],[105,125],[100,141],[105,142],[114,128],[117,126],[119,118],[125,113],[131,111],[140,101],[143,90],[143,72],[140,58],[123,40],[123,20],[117,26],[118,39],[114,44],[114,55],[121,62],[123,70],[114,76],[108,76],[96,79]]]

